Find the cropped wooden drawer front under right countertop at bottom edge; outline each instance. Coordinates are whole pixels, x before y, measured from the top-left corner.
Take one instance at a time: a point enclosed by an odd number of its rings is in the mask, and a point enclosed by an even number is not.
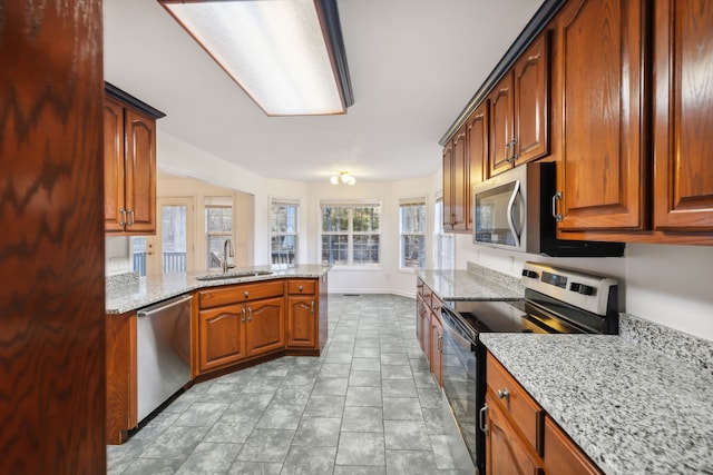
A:
[[[545,418],[545,469],[561,475],[598,475],[602,472],[555,424]]]

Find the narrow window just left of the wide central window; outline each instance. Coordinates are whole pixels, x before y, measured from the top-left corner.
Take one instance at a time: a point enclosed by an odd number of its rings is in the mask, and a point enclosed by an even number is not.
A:
[[[270,211],[270,249],[272,264],[294,267],[297,250],[297,221],[300,202],[272,200]]]

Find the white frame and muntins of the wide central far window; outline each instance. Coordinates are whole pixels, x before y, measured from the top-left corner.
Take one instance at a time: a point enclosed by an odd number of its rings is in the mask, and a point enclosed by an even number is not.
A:
[[[324,208],[333,207],[333,208],[346,208],[348,209],[348,229],[342,231],[324,231]],[[356,208],[377,208],[379,212],[379,229],[378,230],[368,230],[368,231],[354,231],[354,218],[353,210]],[[320,238],[318,256],[320,256],[320,263],[323,266],[332,266],[333,268],[345,268],[345,269],[362,269],[362,270],[380,270],[382,268],[382,250],[383,250],[383,205],[381,200],[375,199],[362,199],[362,200],[320,200],[319,201],[319,229],[320,229]],[[324,236],[346,236],[346,261],[339,264],[330,264],[324,263],[322,259],[323,251],[323,243]],[[362,263],[354,261],[354,236],[377,236],[378,244],[378,259],[375,263]]]

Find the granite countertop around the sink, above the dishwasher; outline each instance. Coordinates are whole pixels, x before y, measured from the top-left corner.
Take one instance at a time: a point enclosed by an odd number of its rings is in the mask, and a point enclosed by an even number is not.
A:
[[[272,280],[279,278],[315,278],[329,271],[329,266],[303,265],[291,268],[279,266],[253,266],[231,269],[227,275],[243,271],[270,270],[266,276],[250,276],[217,280],[197,280],[196,277],[221,275],[221,271],[195,271],[180,274],[164,274],[157,276],[138,277],[135,273],[107,278],[106,313],[124,314],[177,295],[191,293],[198,288],[216,287],[228,284],[244,284],[251,281]]]

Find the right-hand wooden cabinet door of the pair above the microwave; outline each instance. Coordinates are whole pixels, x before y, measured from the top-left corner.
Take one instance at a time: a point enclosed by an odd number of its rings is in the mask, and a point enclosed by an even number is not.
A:
[[[517,164],[549,152],[549,32],[544,31],[512,67]]]

